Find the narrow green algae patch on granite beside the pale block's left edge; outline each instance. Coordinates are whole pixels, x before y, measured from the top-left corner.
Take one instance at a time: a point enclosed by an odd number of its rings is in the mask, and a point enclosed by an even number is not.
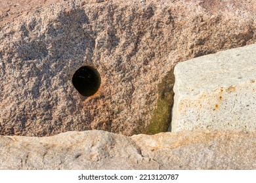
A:
[[[168,127],[171,124],[174,82],[175,76],[173,74],[173,69],[171,69],[158,85],[157,107],[154,110],[150,124],[145,131],[146,134],[154,135],[168,130]]]

